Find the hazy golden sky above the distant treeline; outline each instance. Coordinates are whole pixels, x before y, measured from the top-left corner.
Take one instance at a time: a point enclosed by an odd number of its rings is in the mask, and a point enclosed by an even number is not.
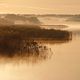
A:
[[[79,14],[80,0],[0,0],[0,13]]]

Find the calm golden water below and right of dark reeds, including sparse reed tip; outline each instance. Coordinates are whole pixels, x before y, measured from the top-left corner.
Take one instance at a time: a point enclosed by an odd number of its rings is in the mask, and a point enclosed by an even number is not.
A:
[[[27,57],[1,57],[0,80],[80,80],[78,28],[68,28],[73,32],[70,41],[37,42],[28,47]]]

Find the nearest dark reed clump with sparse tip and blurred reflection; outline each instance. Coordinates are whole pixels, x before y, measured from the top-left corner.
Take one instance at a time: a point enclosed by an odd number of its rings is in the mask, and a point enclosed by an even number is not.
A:
[[[10,60],[25,60],[36,63],[50,58],[51,55],[51,49],[34,40],[22,40],[21,43],[4,41],[0,44],[0,56]]]

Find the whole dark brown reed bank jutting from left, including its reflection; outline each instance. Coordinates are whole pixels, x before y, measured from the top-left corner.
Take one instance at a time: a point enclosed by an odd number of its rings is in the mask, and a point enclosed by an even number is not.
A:
[[[36,28],[0,28],[0,57],[38,62],[51,57],[52,51],[44,43],[70,41],[71,32]]]

